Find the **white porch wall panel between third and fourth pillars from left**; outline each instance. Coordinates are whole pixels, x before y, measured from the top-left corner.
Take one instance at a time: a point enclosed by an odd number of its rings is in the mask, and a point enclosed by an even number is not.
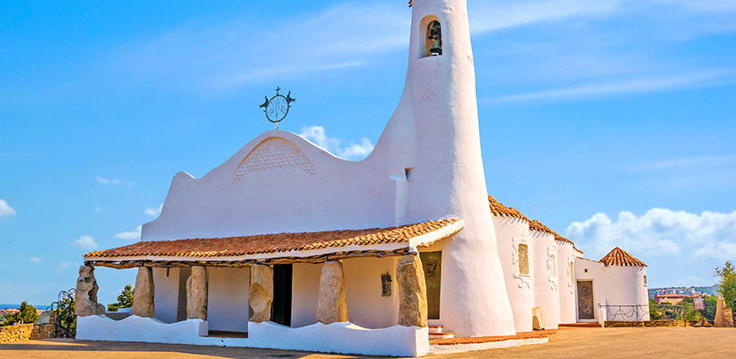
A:
[[[248,331],[250,267],[207,267],[207,275],[209,328]]]

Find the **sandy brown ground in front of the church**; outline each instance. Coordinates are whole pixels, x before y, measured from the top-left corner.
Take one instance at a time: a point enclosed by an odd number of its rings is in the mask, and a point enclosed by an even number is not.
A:
[[[0,345],[0,358],[367,358],[221,346],[31,340]],[[574,328],[549,343],[430,358],[736,358],[736,328]]]

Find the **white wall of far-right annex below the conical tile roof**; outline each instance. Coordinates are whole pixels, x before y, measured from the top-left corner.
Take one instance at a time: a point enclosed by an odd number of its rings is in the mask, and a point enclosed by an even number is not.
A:
[[[593,312],[595,313],[596,321],[599,320],[599,304],[640,305],[643,309],[640,319],[649,320],[649,295],[644,285],[644,276],[646,276],[646,267],[606,267],[603,263],[586,258],[577,258],[575,260],[576,280],[591,280],[593,282]],[[577,311],[577,305],[575,309]],[[625,310],[631,311],[631,308]],[[647,311],[647,313],[644,314],[644,311]],[[613,315],[615,312],[616,309],[607,311],[607,318],[605,320],[614,320]],[[636,320],[634,317],[619,315],[615,320]]]

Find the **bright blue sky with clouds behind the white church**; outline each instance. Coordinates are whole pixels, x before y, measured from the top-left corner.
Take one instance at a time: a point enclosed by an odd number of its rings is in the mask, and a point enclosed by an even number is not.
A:
[[[132,243],[177,171],[272,128],[352,160],[399,101],[410,9],[387,2],[4,2],[0,302],[48,303]],[[736,2],[471,1],[488,191],[651,286],[736,259]],[[101,268],[101,302],[135,270]]]

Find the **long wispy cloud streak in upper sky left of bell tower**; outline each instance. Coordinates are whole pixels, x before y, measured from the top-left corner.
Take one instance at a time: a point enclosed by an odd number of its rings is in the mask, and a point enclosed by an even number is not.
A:
[[[135,82],[166,87],[197,84],[204,91],[221,91],[364,66],[366,59],[406,47],[409,20],[398,4],[351,3],[277,23],[238,18],[210,26],[182,26],[122,48],[115,64]]]

